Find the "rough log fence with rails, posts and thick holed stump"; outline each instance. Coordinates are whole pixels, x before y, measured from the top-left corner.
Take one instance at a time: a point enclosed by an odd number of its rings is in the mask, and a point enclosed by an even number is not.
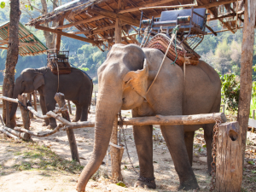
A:
[[[56,93],[55,95],[55,101],[58,103],[59,108],[55,108],[54,111],[49,111],[45,115],[42,115],[38,113],[34,108],[29,107],[22,103],[24,100],[26,100],[26,96],[19,96],[18,99],[12,99],[9,97],[1,96],[3,100],[9,101],[9,102],[17,102],[19,103],[20,110],[21,110],[21,116],[23,120],[24,128],[21,127],[15,127],[13,131],[16,131],[16,135],[13,134],[12,131],[9,130],[8,127],[5,125],[1,126],[2,128],[0,131],[3,132],[9,132],[9,135],[13,135],[15,139],[19,139],[21,137],[20,133],[26,133],[28,137],[35,136],[35,137],[47,137],[49,135],[55,134],[57,131],[67,131],[67,137],[70,144],[70,150],[72,154],[72,159],[79,162],[79,152],[75,140],[75,136],[73,134],[73,129],[78,129],[82,127],[94,127],[95,122],[91,121],[84,121],[84,122],[70,122],[69,113],[67,111],[67,105],[65,104],[65,98],[64,95],[61,93]],[[23,100],[22,100],[23,98]],[[33,113],[35,116],[37,116],[40,119],[49,119],[49,118],[55,118],[59,121],[61,121],[61,124],[57,125],[54,130],[52,131],[44,131],[44,132],[34,132],[29,130],[29,115],[28,113]],[[58,113],[61,113],[62,117],[58,115]],[[171,115],[171,116],[162,116],[162,115],[156,115],[152,117],[139,117],[139,118],[131,118],[131,119],[125,119],[122,121],[124,125],[202,125],[202,124],[213,124],[216,122],[224,123],[226,122],[226,117],[224,113],[206,113],[206,114],[195,114],[195,115]],[[118,115],[116,115],[116,118],[113,123],[113,132],[110,140],[110,153],[111,153],[111,162],[112,162],[112,176],[114,180],[118,180],[118,178],[121,176],[121,169],[120,169],[120,162],[122,160],[122,154],[124,152],[124,148],[122,146],[118,145],[118,125],[119,125],[119,119]],[[219,131],[223,132],[222,135],[218,135],[217,146],[222,146],[223,143],[228,143],[229,146],[227,148],[230,148],[230,150],[218,150],[217,158],[218,166],[221,166],[222,173],[218,172],[216,176],[216,183],[217,183],[217,189],[219,191],[222,191],[224,189],[223,182],[223,176],[225,175],[225,182],[229,183],[229,185],[234,186],[236,189],[241,188],[241,176],[242,176],[242,168],[241,168],[241,156],[236,155],[236,157],[233,157],[234,154],[241,154],[241,139],[237,139],[238,136],[240,136],[239,133],[239,125],[237,122],[233,123],[226,123],[221,126],[219,126]],[[25,139],[24,137],[21,137]],[[230,142],[232,141],[232,142]],[[235,148],[232,146],[236,146]],[[237,147],[238,146],[238,147]],[[218,147],[219,148],[219,147]],[[225,157],[229,157],[228,160],[225,162],[222,162],[221,160]],[[238,163],[238,166],[232,166],[233,161],[232,159],[236,159],[236,163]],[[226,163],[230,166],[226,166]],[[225,164],[225,165],[224,165]],[[241,165],[240,165],[241,164]],[[218,167],[217,166],[217,170]],[[230,167],[232,169],[230,169]],[[232,181],[232,178],[236,177],[236,183]]]

